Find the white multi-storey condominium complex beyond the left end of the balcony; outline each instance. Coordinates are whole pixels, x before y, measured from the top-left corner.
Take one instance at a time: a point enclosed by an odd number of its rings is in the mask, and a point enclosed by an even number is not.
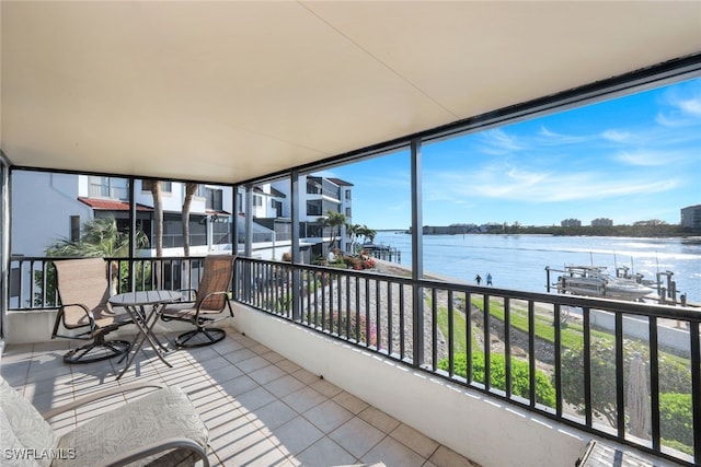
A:
[[[22,235],[13,235],[12,254],[41,256],[55,243],[78,241],[81,226],[93,219],[114,218],[117,229],[129,229],[129,179],[97,175],[18,171],[12,185],[12,226]],[[135,179],[134,199],[137,229],[150,241],[141,256],[154,256],[153,180]],[[325,255],[331,233],[323,227],[329,211],[340,212],[350,222],[353,185],[337,179],[306,176],[300,184],[300,199],[306,199],[306,212],[300,219],[299,237],[303,240],[311,260]],[[182,256],[184,238],[182,211],[186,185],[161,182],[160,202],[163,210],[163,256]],[[193,255],[232,249],[231,222],[233,188],[220,185],[197,185],[189,208],[189,247]],[[254,254],[264,259],[279,257],[291,245],[291,208],[289,183],[256,185],[252,189],[252,243]],[[243,232],[246,206],[244,190],[238,191],[239,231]],[[34,229],[35,218],[44,220],[45,229]],[[336,227],[334,247],[349,248],[345,225]],[[244,238],[239,238],[243,244]]]

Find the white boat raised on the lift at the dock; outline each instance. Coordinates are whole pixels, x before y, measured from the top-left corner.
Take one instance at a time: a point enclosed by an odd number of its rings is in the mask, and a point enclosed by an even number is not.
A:
[[[606,266],[565,266],[554,283],[560,293],[639,301],[655,291],[640,276],[611,276]]]

